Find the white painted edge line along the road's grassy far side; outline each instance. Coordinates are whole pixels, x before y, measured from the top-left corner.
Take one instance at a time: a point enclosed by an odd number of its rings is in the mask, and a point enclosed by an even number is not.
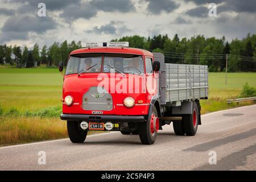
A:
[[[244,108],[244,107],[251,107],[251,106],[256,106],[256,105],[242,106],[242,107],[236,107],[236,108],[233,108],[233,109],[220,110],[220,111],[216,111],[216,112],[209,113],[209,114],[203,114],[203,115],[201,115],[201,117],[205,117],[205,116],[208,116],[208,115],[217,114],[217,113],[221,113],[221,112],[229,111],[229,110],[242,109],[242,108]],[[118,133],[118,132],[110,132],[110,133],[104,133],[104,134],[88,135],[87,137],[94,137],[94,136],[99,136],[99,135],[108,135],[108,134],[113,134],[113,133]],[[34,142],[34,143],[26,143],[26,144],[16,144],[16,145],[13,145],[13,146],[0,147],[0,150],[1,150],[1,149],[4,149],[4,148],[13,148],[13,147],[30,146],[30,145],[34,145],[34,144],[61,142],[61,141],[64,141],[64,140],[69,140],[69,138],[57,139],[57,140],[49,140],[49,141],[45,141],[45,142]],[[169,149],[171,149],[171,148],[167,148],[166,150],[169,150]],[[164,150],[162,150],[162,151],[164,151]],[[159,151],[159,152],[160,152],[160,151]]]

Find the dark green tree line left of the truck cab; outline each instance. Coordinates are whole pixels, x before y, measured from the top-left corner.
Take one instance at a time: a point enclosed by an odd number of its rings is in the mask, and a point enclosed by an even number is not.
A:
[[[63,43],[54,42],[52,46],[45,45],[39,48],[35,44],[30,50],[27,46],[21,48],[20,46],[0,46],[0,64],[16,64],[18,67],[31,68],[37,65],[46,64],[48,67],[58,65],[59,61],[64,61],[67,64],[68,55],[75,49],[81,48],[81,42],[76,43],[72,41],[68,44],[67,40]],[[11,55],[14,55],[14,59]]]

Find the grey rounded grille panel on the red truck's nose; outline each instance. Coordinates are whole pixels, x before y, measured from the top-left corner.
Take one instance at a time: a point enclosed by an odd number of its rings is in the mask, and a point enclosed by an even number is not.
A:
[[[99,93],[98,90],[101,90],[101,93]],[[92,86],[89,91],[82,96],[82,109],[112,110],[112,96],[105,88],[98,89],[98,86]]]

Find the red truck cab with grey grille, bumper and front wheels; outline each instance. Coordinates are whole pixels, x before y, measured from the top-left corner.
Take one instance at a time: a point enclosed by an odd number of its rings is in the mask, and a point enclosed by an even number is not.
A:
[[[59,69],[63,71],[63,63]],[[89,130],[100,130],[138,134],[143,144],[153,144],[158,130],[170,124],[163,121],[167,107],[160,105],[159,69],[160,61],[143,49],[106,46],[72,51],[60,115],[67,121],[71,141],[84,142]]]

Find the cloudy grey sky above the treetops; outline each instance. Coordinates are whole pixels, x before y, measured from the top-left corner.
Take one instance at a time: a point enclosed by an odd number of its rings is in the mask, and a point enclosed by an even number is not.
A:
[[[41,2],[46,16],[38,15]],[[209,15],[210,3],[216,16]],[[159,34],[231,41],[248,33],[256,34],[255,0],[0,0],[0,44],[22,47]]]

